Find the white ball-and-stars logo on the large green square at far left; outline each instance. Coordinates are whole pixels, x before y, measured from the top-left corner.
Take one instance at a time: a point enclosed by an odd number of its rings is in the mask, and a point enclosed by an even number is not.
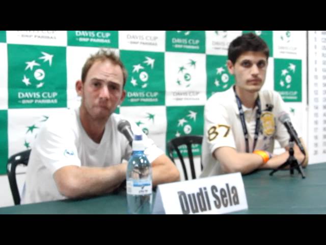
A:
[[[25,84],[26,87],[35,87],[35,88],[41,88],[44,85],[44,78],[46,76],[46,73],[44,71],[44,68],[42,65],[46,65],[47,67],[50,67],[52,65],[52,58],[53,55],[41,52],[43,56],[40,56],[32,61],[25,62],[26,67],[24,70],[24,75],[22,82]],[[40,60],[40,61],[39,61]],[[41,63],[41,61],[43,62]],[[38,61],[38,62],[36,62]]]

